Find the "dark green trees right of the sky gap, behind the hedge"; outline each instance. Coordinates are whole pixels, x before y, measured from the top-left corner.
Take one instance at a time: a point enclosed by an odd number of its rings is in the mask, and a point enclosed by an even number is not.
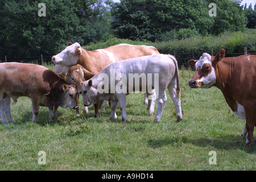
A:
[[[216,3],[216,17],[209,16],[210,3]],[[123,0],[115,3],[113,15],[113,28],[118,38],[152,42],[163,40],[167,32],[174,30],[181,31],[178,38],[182,39],[189,35],[244,30],[246,26],[242,7],[229,0]],[[184,31],[187,35],[182,36]]]

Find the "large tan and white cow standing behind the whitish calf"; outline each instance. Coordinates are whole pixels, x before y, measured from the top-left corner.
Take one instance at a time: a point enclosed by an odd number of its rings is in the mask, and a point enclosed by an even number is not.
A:
[[[105,49],[97,49],[95,51],[86,51],[79,43],[68,43],[59,54],[52,56],[55,63],[55,73],[67,72],[68,68],[75,64],[80,64],[85,68],[86,72],[92,73],[88,79],[96,75],[107,65],[120,60],[130,59],[134,57],[157,55],[158,49],[153,46],[135,46],[131,44],[118,44]],[[71,74],[72,75],[72,74]],[[86,80],[88,80],[86,79]],[[80,78],[80,81],[82,78]],[[77,83],[78,84],[78,83]],[[77,85],[76,84],[76,85]],[[79,85],[77,85],[79,86]],[[144,97],[144,104],[148,103],[147,96]],[[99,103],[95,104],[94,117],[98,117]],[[148,104],[149,108],[150,104]],[[88,110],[85,108],[85,110]],[[152,109],[151,109],[152,110]]]

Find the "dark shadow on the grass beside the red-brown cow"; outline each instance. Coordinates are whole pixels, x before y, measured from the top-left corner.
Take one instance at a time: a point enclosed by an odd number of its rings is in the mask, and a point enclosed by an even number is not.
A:
[[[151,138],[147,140],[148,146],[152,148],[160,148],[163,146],[182,146],[183,143],[191,143],[198,147],[214,147],[219,150],[244,150],[247,153],[256,153],[256,144],[253,144],[249,148],[244,146],[245,139],[242,139],[239,135],[225,135],[222,137],[213,138],[197,138],[188,139],[187,137],[167,137],[162,139]]]

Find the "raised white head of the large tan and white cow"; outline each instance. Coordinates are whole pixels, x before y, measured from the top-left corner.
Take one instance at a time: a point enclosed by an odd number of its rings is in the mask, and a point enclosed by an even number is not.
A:
[[[70,67],[75,65],[79,60],[79,56],[82,54],[82,49],[79,43],[72,44],[68,43],[66,47],[59,54],[52,56],[52,61],[55,64],[60,64],[64,67]]]

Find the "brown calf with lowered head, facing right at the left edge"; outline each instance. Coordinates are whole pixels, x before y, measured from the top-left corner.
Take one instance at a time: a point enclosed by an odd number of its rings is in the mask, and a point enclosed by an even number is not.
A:
[[[75,85],[70,85],[50,69],[36,64],[0,64],[0,117],[3,124],[14,123],[10,102],[26,96],[32,102],[32,122],[36,122],[39,106],[49,109],[49,120],[53,121],[57,108],[75,109],[78,101]],[[5,114],[7,119],[5,118]]]

